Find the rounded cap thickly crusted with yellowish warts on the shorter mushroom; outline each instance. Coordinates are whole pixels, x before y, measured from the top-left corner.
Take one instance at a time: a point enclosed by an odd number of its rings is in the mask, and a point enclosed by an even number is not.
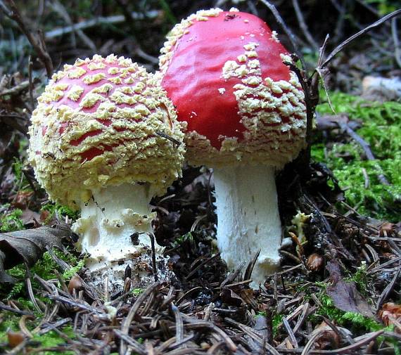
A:
[[[38,102],[29,159],[51,200],[77,207],[91,191],[130,182],[161,194],[181,175],[184,135],[173,105],[131,60],[64,65]]]

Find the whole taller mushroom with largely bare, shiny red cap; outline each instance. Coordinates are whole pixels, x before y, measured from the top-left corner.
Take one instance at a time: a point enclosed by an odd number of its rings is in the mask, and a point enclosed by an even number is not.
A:
[[[222,258],[234,269],[261,249],[255,287],[280,260],[275,171],[305,146],[304,93],[283,63],[291,57],[260,18],[219,8],[182,20],[161,53],[186,157],[213,168]]]

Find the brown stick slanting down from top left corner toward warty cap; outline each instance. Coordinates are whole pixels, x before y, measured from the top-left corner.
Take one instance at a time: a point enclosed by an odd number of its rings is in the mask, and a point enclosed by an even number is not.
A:
[[[47,77],[50,79],[51,75],[53,74],[53,63],[51,63],[50,55],[46,51],[46,46],[44,46],[44,42],[41,41],[40,35],[39,38],[35,37],[32,32],[28,30],[27,25],[25,25],[25,20],[21,16],[20,11],[18,11],[18,8],[13,0],[6,0],[6,3],[8,8],[3,1],[0,1],[1,10],[8,16],[8,18],[11,18],[11,20],[17,22],[18,27],[20,27],[20,30],[23,32],[23,34],[25,34],[25,37],[27,37],[28,41],[36,51],[37,56],[40,58],[40,60],[42,60],[42,63],[46,68]]]

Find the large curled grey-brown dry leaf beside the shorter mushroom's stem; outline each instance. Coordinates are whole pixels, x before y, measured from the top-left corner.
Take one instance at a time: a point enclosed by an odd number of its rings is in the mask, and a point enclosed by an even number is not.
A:
[[[66,225],[1,233],[0,283],[13,283],[15,281],[5,270],[22,263],[32,266],[49,248],[57,247],[63,250],[61,239],[70,235],[70,228]]]

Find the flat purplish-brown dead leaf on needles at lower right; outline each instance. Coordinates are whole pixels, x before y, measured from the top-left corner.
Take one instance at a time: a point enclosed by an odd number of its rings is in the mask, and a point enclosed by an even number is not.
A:
[[[371,306],[367,304],[358,292],[354,282],[345,282],[341,276],[340,266],[336,262],[329,262],[326,269],[330,273],[330,285],[326,292],[333,299],[333,304],[341,311],[354,312],[366,317],[374,317]]]

